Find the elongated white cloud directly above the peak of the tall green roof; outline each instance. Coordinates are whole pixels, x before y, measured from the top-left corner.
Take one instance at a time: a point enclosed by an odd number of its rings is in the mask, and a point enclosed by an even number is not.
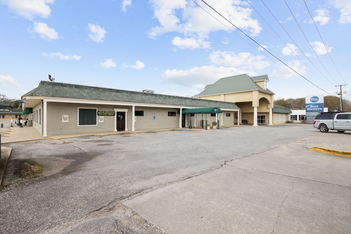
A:
[[[249,52],[235,54],[230,51],[214,51],[210,54],[211,63],[228,67],[239,67],[241,69],[263,69],[270,63],[263,60],[263,55],[252,55]]]

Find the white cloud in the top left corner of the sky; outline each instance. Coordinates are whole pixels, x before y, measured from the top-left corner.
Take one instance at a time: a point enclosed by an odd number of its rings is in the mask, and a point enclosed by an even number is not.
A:
[[[53,4],[55,0],[3,0],[9,11],[23,16],[28,20],[33,20],[35,15],[47,18],[51,9],[48,4]]]

